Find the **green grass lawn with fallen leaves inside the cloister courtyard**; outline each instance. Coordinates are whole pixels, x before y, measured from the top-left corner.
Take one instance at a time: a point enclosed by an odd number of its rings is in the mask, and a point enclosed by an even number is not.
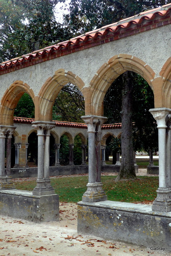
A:
[[[158,188],[158,177],[139,176],[136,180],[115,182],[116,176],[102,176],[103,188],[108,200],[121,202],[152,202]],[[51,179],[55,193],[60,196],[60,202],[77,203],[82,200],[87,190],[88,176],[64,177]],[[36,181],[15,183],[16,189],[33,190]]]

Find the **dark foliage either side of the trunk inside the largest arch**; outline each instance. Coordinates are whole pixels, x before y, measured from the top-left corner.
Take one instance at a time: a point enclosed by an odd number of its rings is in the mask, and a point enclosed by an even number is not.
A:
[[[134,150],[158,150],[157,124],[148,111],[154,108],[154,94],[147,82],[133,73],[133,139]],[[109,87],[104,98],[104,115],[108,123],[121,122],[122,80],[119,76]]]

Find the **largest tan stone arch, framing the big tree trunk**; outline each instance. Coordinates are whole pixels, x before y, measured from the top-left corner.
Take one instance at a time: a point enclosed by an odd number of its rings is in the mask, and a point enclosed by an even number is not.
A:
[[[103,115],[104,96],[111,83],[125,71],[133,71],[141,75],[153,88],[155,72],[141,59],[129,54],[118,54],[104,63],[90,82],[93,90],[91,98],[91,112],[89,114]]]

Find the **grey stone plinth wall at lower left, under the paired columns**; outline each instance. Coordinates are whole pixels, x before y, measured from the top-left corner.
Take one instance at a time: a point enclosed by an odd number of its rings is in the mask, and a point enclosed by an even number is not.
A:
[[[59,221],[59,196],[35,196],[30,191],[0,191],[0,215],[36,223]]]

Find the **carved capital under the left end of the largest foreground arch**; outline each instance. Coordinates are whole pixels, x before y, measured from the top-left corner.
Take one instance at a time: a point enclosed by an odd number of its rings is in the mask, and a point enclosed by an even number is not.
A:
[[[81,118],[87,124],[88,133],[101,131],[102,124],[107,120],[107,117],[101,117],[98,115],[83,115]]]

